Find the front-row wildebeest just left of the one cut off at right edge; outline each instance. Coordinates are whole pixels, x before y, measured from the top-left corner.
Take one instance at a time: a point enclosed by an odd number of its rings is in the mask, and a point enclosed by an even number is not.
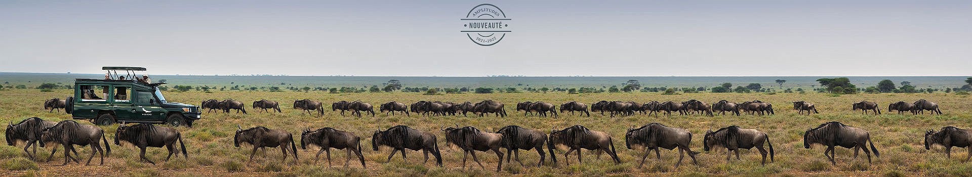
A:
[[[853,127],[838,122],[830,122],[825,124],[820,124],[813,129],[807,129],[803,133],[803,147],[810,149],[811,144],[822,144],[827,146],[827,150],[823,152],[823,156],[830,159],[830,163],[836,165],[837,162],[834,160],[834,147],[840,146],[844,148],[853,148],[853,157],[857,158],[857,150],[864,150],[864,154],[867,155],[867,162],[871,162],[871,152],[867,150],[866,144],[871,144],[871,151],[874,151],[874,157],[880,157],[881,154],[878,153],[878,149],[874,148],[874,143],[871,142],[871,134],[864,130],[863,128]],[[830,153],[827,156],[827,153]]]

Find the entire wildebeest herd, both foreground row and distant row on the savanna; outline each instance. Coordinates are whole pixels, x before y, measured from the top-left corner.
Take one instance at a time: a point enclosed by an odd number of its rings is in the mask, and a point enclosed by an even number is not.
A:
[[[62,102],[58,101],[58,99],[47,100],[45,102],[45,108],[55,109],[58,106],[63,108]],[[793,110],[798,110],[799,114],[803,114],[804,111],[808,115],[812,113],[818,114],[816,105],[813,103],[806,101],[795,101],[792,103]],[[261,111],[263,112],[268,112],[266,109],[270,109],[273,112],[282,112],[277,101],[265,99],[254,101],[252,106],[254,109],[262,109]],[[225,99],[223,101],[210,99],[203,101],[202,108],[209,108],[210,111],[219,109],[224,111],[224,113],[229,113],[229,110],[235,109],[238,112],[246,114],[243,102],[232,99]],[[294,109],[300,109],[310,115],[313,115],[313,112],[317,112],[317,116],[323,115],[324,112],[322,102],[309,99],[295,100]],[[724,115],[726,114],[725,112],[737,116],[742,115],[742,113],[749,115],[775,114],[772,104],[759,100],[743,103],[720,100],[712,105],[695,99],[684,102],[650,101],[645,104],[634,101],[603,100],[591,104],[590,109],[588,109],[587,104],[570,101],[561,104],[559,112],[557,111],[557,106],[554,104],[543,101],[532,101],[518,103],[515,109],[516,111],[524,111],[525,116],[533,114],[539,117],[557,117],[558,113],[565,112],[571,112],[572,115],[574,114],[573,112],[579,112],[581,116],[586,115],[588,117],[590,117],[590,112],[600,112],[601,115],[605,115],[607,112],[608,115],[606,116],[611,117],[631,116],[634,114],[651,115],[652,113],[657,115],[659,112],[669,115],[673,114],[672,112],[677,112],[679,115],[700,114],[705,116],[713,116],[714,114]],[[853,103],[851,109],[854,111],[860,109],[865,111],[864,114],[868,110],[871,110],[874,114],[880,114],[878,104],[869,101]],[[341,115],[344,115],[344,111],[349,111],[351,112],[351,116],[357,114],[358,117],[363,116],[362,112],[369,113],[372,117],[375,115],[371,104],[362,101],[333,102],[331,104],[331,110],[340,110]],[[921,114],[922,111],[941,114],[937,104],[924,99],[920,99],[914,103],[904,101],[891,103],[888,105],[887,110],[898,111],[899,114],[903,112]],[[423,100],[410,105],[390,101],[381,104],[379,111],[393,115],[395,113],[404,113],[406,116],[410,116],[410,113],[428,116],[460,114],[466,116],[469,112],[479,117],[486,116],[490,113],[498,117],[508,116],[503,109],[503,103],[493,100],[458,104]],[[473,126],[460,126],[458,124],[452,127],[441,127],[440,130],[442,131],[441,135],[445,138],[447,147],[452,147],[463,152],[463,168],[466,167],[466,161],[469,155],[472,156],[471,159],[480,167],[485,168],[476,156],[477,151],[493,152],[497,156],[497,159],[499,159],[496,168],[497,171],[502,169],[503,156],[506,156],[507,163],[510,162],[510,159],[515,159],[521,165],[524,165],[519,159],[519,150],[537,151],[539,155],[538,165],[541,165],[547,157],[543,150],[544,145],[550,155],[550,162],[554,165],[557,165],[554,149],[566,152],[563,154],[565,164],[570,164],[571,160],[569,159],[569,155],[574,151],[576,151],[577,161],[581,162],[581,149],[591,150],[597,153],[598,157],[604,153],[615,163],[621,162],[621,159],[617,157],[618,152],[614,147],[614,140],[610,134],[604,131],[588,129],[582,125],[573,125],[563,129],[554,127],[548,131],[549,133],[519,125],[503,126],[503,128],[498,129],[496,132]],[[82,147],[91,146],[92,151],[90,157],[87,159],[87,163],[94,158],[96,153],[100,154],[101,164],[104,163],[105,156],[111,155],[111,145],[108,143],[107,137],[104,136],[103,129],[95,125],[79,124],[74,121],[55,123],[44,121],[40,118],[30,118],[18,124],[8,124],[6,136],[8,145],[10,146],[24,144],[23,142],[25,142],[23,151],[30,159],[37,157],[37,146],[45,147],[53,145],[59,145],[64,148],[64,162],[62,164],[67,164],[71,160],[80,163],[79,158],[75,158],[78,157],[78,154],[74,145]],[[425,162],[428,162],[429,154],[432,154],[435,163],[441,166],[442,157],[437,144],[437,136],[437,133],[430,131],[415,129],[405,125],[397,125],[384,130],[380,128],[374,130],[371,134],[370,141],[372,151],[379,151],[379,147],[388,147],[393,150],[388,159],[392,159],[399,151],[402,159],[405,159],[405,149],[412,151],[421,150],[425,154]],[[863,150],[869,162],[872,152],[875,157],[880,156],[878,149],[871,141],[871,136],[868,131],[860,127],[830,122],[819,124],[815,128],[808,129],[804,132],[803,136],[804,147],[807,149],[811,148],[813,144],[825,146],[824,155],[832,164],[836,164],[834,160],[834,148],[837,146],[853,149],[854,158],[856,158],[858,151]],[[315,163],[322,153],[327,153],[327,159],[330,165],[330,149],[333,148],[336,150],[346,150],[347,159],[345,160],[345,166],[348,165],[348,162],[352,158],[357,158],[361,161],[362,166],[365,166],[364,152],[362,152],[361,144],[362,138],[355,133],[331,127],[313,130],[306,128],[301,132],[299,138],[301,149],[308,149],[308,147],[311,147],[311,149],[320,148],[320,151],[315,156]],[[644,160],[650,155],[649,153],[652,150],[655,151],[656,158],[660,159],[660,148],[667,150],[678,149],[679,158],[676,166],[680,165],[686,154],[692,159],[693,163],[698,164],[696,162],[696,156],[699,155],[699,152],[690,150],[691,140],[692,133],[690,131],[657,123],[645,124],[641,127],[632,126],[624,134],[625,147],[627,149],[644,151],[639,166],[644,163]],[[177,141],[179,146],[176,146]],[[36,146],[34,146],[35,143],[37,144]],[[180,153],[184,158],[189,158],[182,134],[177,129],[166,126],[156,126],[154,124],[122,124],[115,131],[114,144],[116,146],[131,145],[139,148],[139,158],[153,164],[155,164],[155,161],[145,157],[146,148],[148,147],[165,147],[168,150],[168,156],[165,160],[170,159],[172,155],[177,155],[178,157]],[[246,129],[238,127],[233,137],[233,145],[240,147],[241,144],[250,145],[252,148],[250,153],[251,160],[256,155],[258,149],[276,147],[280,147],[283,153],[282,161],[286,161],[289,156],[288,152],[291,152],[291,156],[294,157],[295,161],[299,160],[297,159],[295,137],[285,130],[270,129],[263,126]],[[966,148],[972,145],[972,133],[967,129],[960,129],[954,126],[942,127],[940,130],[928,130],[925,132],[923,144],[925,149],[929,149],[929,147],[935,145],[944,146],[947,150],[951,150],[952,147]],[[32,146],[34,147],[33,152],[28,151]],[[740,159],[739,149],[751,148],[759,151],[762,156],[761,163],[763,165],[765,165],[767,157],[770,158],[771,162],[775,159],[775,152],[773,145],[770,143],[769,133],[759,129],[743,128],[737,125],[707,131],[703,137],[703,147],[705,151],[716,149],[727,150],[727,161],[731,159],[732,152],[735,152],[736,159]],[[502,151],[503,148],[506,150],[505,154]],[[57,148],[55,146],[51,154],[53,155],[56,151]],[[969,151],[972,154],[972,148],[969,148]],[[74,157],[71,156],[71,153],[74,153]],[[946,151],[946,156],[951,157],[951,153]],[[48,160],[50,161],[51,158],[52,156]],[[972,158],[972,155],[966,157],[965,160],[969,158]]]

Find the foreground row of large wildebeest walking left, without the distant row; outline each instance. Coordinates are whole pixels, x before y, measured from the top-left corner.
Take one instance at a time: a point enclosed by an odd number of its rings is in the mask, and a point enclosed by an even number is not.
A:
[[[440,130],[443,131],[442,135],[444,135],[445,142],[449,147],[463,151],[464,168],[466,167],[466,160],[469,155],[472,156],[472,159],[480,167],[485,168],[476,156],[477,151],[489,151],[496,154],[497,159],[499,159],[497,171],[502,169],[504,155],[507,157],[507,162],[510,161],[511,157],[515,157],[514,159],[523,165],[523,162],[519,159],[519,150],[537,151],[540,157],[538,165],[543,164],[546,157],[542,149],[544,145],[546,145],[546,150],[551,155],[550,162],[554,165],[557,165],[554,149],[566,151],[563,154],[565,164],[570,164],[571,160],[568,158],[574,151],[577,152],[577,161],[581,162],[581,149],[594,151],[599,157],[602,153],[605,153],[615,163],[621,162],[617,158],[617,150],[614,148],[614,140],[610,134],[588,129],[582,125],[573,125],[563,129],[554,127],[548,134],[540,130],[518,125],[507,125],[496,132],[482,130],[473,126],[460,125],[442,127]],[[111,146],[108,143],[107,137],[104,136],[104,130],[95,125],[78,124],[74,121],[53,123],[40,118],[30,118],[18,124],[8,124],[6,134],[7,143],[10,146],[23,144],[20,142],[26,142],[23,150],[31,159],[37,157],[36,146],[34,147],[34,152],[30,152],[27,149],[34,143],[38,143],[41,147],[45,147],[45,145],[63,146],[64,162],[62,165],[67,164],[70,160],[80,163],[75,158],[78,155],[74,145],[82,147],[90,145],[92,147],[91,156],[88,157],[87,163],[94,158],[95,153],[100,154],[101,164],[104,163],[105,156],[111,155]],[[870,134],[867,130],[860,127],[830,122],[807,129],[803,136],[804,147],[807,149],[810,149],[813,144],[825,146],[824,155],[833,164],[836,164],[834,160],[834,148],[838,146],[854,149],[855,158],[858,151],[864,151],[869,162],[871,161],[871,153],[874,153],[875,157],[880,157],[878,149],[871,141]],[[301,132],[299,143],[301,149],[307,149],[308,147],[320,148],[320,151],[314,159],[315,163],[318,161],[320,155],[326,152],[330,165],[330,148],[333,148],[346,150],[347,159],[345,160],[345,166],[348,165],[348,162],[352,158],[357,158],[361,161],[362,166],[365,166],[361,139],[355,133],[337,130],[331,127],[315,130],[307,128]],[[688,130],[657,123],[645,124],[641,127],[631,127],[624,135],[625,147],[627,149],[644,151],[639,166],[644,163],[644,160],[650,155],[649,153],[652,150],[655,151],[655,156],[660,159],[659,148],[667,150],[678,149],[679,158],[676,166],[681,163],[681,160],[686,154],[692,159],[693,163],[698,164],[695,159],[699,152],[692,151],[689,148],[691,140],[692,133]],[[177,141],[179,143],[178,147],[176,146]],[[428,162],[429,154],[432,154],[435,158],[435,163],[441,166],[442,157],[436,141],[436,133],[411,128],[406,125],[397,125],[385,130],[379,128],[371,134],[372,151],[379,151],[379,147],[389,147],[393,150],[388,159],[392,159],[399,151],[401,152],[402,159],[405,159],[405,149],[412,151],[421,150],[425,154],[425,162]],[[104,144],[101,144],[102,142]],[[937,131],[928,130],[925,132],[923,144],[926,149],[929,149],[931,146],[941,145],[947,150],[951,150],[952,147],[968,147],[972,144],[970,142],[972,142],[972,133],[969,130],[946,126]],[[121,146],[123,144],[139,148],[141,150],[139,158],[153,164],[155,164],[155,161],[145,157],[147,147],[167,148],[168,157],[165,160],[170,159],[172,155],[178,156],[180,153],[184,158],[189,158],[181,133],[170,127],[156,126],[153,124],[121,125],[115,132],[115,145]],[[258,149],[276,147],[280,147],[283,153],[282,161],[286,161],[289,151],[294,156],[294,159],[298,160],[295,138],[290,132],[284,130],[269,129],[263,126],[247,129],[239,127],[233,136],[233,146],[240,147],[241,144],[251,146],[251,160]],[[735,152],[736,159],[740,159],[739,149],[751,148],[759,150],[759,153],[762,155],[763,165],[766,164],[767,155],[769,155],[771,161],[775,159],[773,144],[770,143],[768,133],[759,129],[743,128],[737,125],[722,127],[715,131],[707,131],[703,137],[703,147],[705,151],[726,149],[727,161],[731,159],[732,152]],[[505,154],[503,154],[503,148],[506,149]],[[53,155],[56,151],[56,148],[52,149],[51,154]],[[972,148],[969,151],[972,152]],[[70,154],[72,152],[75,154],[74,157]],[[946,155],[951,157],[950,151],[946,151]],[[965,160],[968,160],[970,157],[972,155],[966,157]],[[49,157],[48,160],[50,161],[51,158]]]

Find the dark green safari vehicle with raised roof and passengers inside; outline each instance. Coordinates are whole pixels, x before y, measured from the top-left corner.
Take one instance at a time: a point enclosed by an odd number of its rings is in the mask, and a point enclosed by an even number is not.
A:
[[[102,67],[104,79],[75,79],[74,96],[67,97],[65,112],[76,120],[98,125],[151,123],[191,126],[202,112],[198,106],[168,102],[157,88],[135,75],[143,67]],[[118,71],[124,71],[121,76]]]

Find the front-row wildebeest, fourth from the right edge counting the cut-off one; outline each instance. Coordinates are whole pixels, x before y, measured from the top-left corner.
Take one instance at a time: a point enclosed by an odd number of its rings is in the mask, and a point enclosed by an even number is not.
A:
[[[662,155],[658,152],[658,148],[665,148],[667,150],[674,150],[678,148],[678,162],[675,166],[681,164],[681,159],[688,154],[689,158],[692,158],[692,163],[699,165],[698,161],[695,161],[695,155],[699,152],[693,152],[689,149],[689,143],[692,142],[692,133],[688,130],[676,127],[668,127],[664,124],[645,124],[639,128],[628,128],[628,131],[624,135],[625,146],[631,149],[644,149],[644,156],[642,156],[642,162],[638,163],[641,167],[644,163],[644,159],[648,158],[648,153],[651,150],[655,150],[655,156],[658,159],[662,159]],[[634,146],[634,148],[632,148]]]

